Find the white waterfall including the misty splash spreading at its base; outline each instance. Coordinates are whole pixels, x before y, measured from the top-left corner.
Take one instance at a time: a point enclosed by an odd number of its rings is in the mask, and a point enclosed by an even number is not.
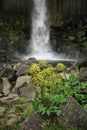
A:
[[[33,0],[32,30],[29,49],[31,53],[22,59],[35,57],[38,60],[69,60],[62,54],[55,55],[49,45],[50,30],[48,26],[46,0]]]

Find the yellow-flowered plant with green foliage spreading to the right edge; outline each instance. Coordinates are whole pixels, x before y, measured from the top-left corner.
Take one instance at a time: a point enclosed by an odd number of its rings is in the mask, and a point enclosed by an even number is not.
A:
[[[32,104],[36,112],[41,115],[59,116],[59,106],[66,102],[68,95],[81,104],[87,103],[87,95],[81,93],[87,87],[87,82],[80,82],[78,76],[70,75],[68,79],[63,79],[61,74],[55,73],[53,67],[43,70],[38,66],[32,68],[33,66],[28,72],[33,74],[32,85],[36,89],[36,98]]]

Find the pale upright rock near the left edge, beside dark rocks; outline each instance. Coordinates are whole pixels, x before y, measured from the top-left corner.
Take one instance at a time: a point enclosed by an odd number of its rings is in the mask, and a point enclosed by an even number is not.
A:
[[[2,79],[3,79],[3,93],[5,95],[8,95],[11,91],[12,86],[7,78],[2,78]]]

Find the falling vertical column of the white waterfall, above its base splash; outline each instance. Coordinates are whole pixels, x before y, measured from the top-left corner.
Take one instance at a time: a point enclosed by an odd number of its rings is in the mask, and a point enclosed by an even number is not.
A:
[[[46,0],[34,0],[31,34],[32,54],[44,55],[51,51],[47,27]]]

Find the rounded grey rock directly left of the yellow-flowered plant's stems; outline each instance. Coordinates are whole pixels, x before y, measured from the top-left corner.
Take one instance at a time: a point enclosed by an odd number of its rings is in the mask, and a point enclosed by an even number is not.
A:
[[[20,97],[26,99],[27,101],[32,101],[35,98],[35,90],[33,87],[29,87],[26,83],[24,83],[19,88]]]

